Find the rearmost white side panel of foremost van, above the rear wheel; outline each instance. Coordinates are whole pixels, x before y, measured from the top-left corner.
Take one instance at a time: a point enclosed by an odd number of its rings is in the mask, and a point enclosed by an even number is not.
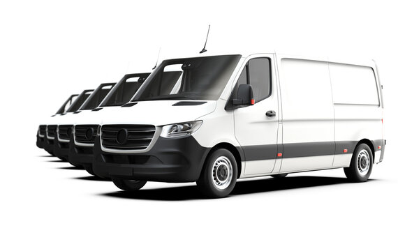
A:
[[[348,167],[356,144],[369,139],[379,162],[383,140],[381,86],[374,62],[329,63],[334,98],[335,137],[333,167]],[[348,154],[344,154],[346,149]]]

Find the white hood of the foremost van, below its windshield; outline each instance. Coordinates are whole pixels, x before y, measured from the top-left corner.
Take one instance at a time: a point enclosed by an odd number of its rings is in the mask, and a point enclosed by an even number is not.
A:
[[[134,103],[134,102],[132,102]],[[150,100],[139,101],[131,107],[104,107],[101,124],[149,124],[163,126],[170,123],[195,121],[214,112],[214,100]]]

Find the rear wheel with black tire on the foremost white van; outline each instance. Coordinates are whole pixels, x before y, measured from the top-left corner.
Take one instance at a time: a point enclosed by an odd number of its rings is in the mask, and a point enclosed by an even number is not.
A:
[[[367,144],[357,146],[351,158],[350,167],[344,168],[344,174],[351,182],[367,181],[373,168],[373,155]]]

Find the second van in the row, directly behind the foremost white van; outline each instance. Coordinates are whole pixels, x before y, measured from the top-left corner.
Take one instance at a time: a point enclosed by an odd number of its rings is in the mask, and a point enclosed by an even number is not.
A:
[[[94,139],[102,121],[104,110],[108,107],[120,108],[125,105],[133,98],[135,92],[148,76],[149,73],[124,75],[96,109],[93,109],[89,114],[87,112],[78,114],[79,118],[73,123],[71,139],[68,141],[68,161],[72,165],[82,166],[89,174],[94,175],[92,172]]]

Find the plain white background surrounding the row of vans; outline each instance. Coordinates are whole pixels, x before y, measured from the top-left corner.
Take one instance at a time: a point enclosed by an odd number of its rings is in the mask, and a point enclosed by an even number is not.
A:
[[[397,250],[397,7],[393,1],[1,1],[1,250]],[[367,183],[343,170],[117,192],[37,149],[71,94],[207,50],[361,56],[378,63],[385,160]]]

